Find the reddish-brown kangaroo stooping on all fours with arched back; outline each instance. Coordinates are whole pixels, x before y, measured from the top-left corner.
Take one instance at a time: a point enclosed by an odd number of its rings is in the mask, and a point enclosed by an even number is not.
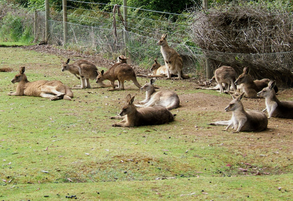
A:
[[[97,83],[103,82],[104,80],[110,80],[113,90],[115,90],[115,80],[118,80],[118,89],[124,90],[124,80],[130,81],[138,87],[142,86],[136,80],[136,75],[132,67],[126,63],[115,63],[109,70],[104,72],[102,70],[100,73],[98,72],[98,76],[96,79]]]

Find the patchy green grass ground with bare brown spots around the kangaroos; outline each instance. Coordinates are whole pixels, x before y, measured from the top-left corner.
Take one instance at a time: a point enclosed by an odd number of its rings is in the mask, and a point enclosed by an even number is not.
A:
[[[0,58],[0,67],[17,71],[25,66],[30,81],[80,84],[69,72],[61,72],[62,56],[0,48]],[[176,121],[112,127],[116,120],[109,117],[120,112],[126,94],[135,95],[136,101],[145,98],[131,82],[126,82],[127,90],[111,92],[92,81],[94,88],[73,90],[73,101],[49,101],[7,96],[15,91],[16,84],[10,82],[15,74],[0,73],[0,200],[53,201],[71,195],[127,201],[293,197],[291,120],[270,120],[265,132],[224,132],[207,122],[230,118],[222,112],[228,95],[194,90],[192,80],[157,80],[162,89],[176,89],[181,99],[182,106],[172,110]],[[209,102],[210,97],[220,101]],[[251,109],[263,106],[257,100],[245,103]]]

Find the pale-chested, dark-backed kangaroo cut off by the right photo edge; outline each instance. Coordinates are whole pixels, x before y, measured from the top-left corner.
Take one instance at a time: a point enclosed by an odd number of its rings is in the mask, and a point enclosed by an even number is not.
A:
[[[279,101],[273,89],[275,81],[270,81],[266,88],[257,93],[258,97],[266,99],[266,109],[268,111],[269,119],[271,117],[293,119],[293,101]]]

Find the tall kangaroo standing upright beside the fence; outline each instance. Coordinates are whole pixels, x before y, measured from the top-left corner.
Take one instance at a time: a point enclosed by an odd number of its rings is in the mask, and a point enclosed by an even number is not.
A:
[[[171,74],[178,74],[178,79],[188,79],[188,75],[184,75],[183,61],[181,56],[167,43],[167,34],[163,34],[161,39],[157,42],[157,45],[161,46],[161,53],[165,60],[165,66],[167,68],[167,79],[171,79]]]

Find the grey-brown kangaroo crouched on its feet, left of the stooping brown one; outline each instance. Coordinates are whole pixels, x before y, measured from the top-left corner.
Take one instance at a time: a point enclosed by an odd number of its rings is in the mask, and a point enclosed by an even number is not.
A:
[[[89,79],[96,80],[98,76],[98,69],[95,64],[88,60],[78,60],[72,64],[69,64],[70,59],[67,59],[66,62],[61,60],[62,63],[62,72],[68,70],[70,73],[75,75],[77,79],[82,80],[81,86],[76,86],[76,89],[85,89],[90,88]],[[78,75],[80,77],[78,77]],[[108,87],[110,85],[106,85],[103,82],[99,82],[99,85],[102,87]]]

